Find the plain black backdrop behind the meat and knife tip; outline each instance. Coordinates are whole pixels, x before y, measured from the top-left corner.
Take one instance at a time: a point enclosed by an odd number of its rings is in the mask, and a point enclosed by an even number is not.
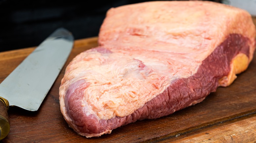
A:
[[[39,45],[64,27],[75,40],[98,35],[109,8],[146,0],[0,0],[0,52]]]

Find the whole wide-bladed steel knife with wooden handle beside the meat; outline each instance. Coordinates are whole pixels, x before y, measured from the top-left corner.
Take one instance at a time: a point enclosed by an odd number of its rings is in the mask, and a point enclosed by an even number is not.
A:
[[[71,32],[64,28],[55,30],[0,84],[0,140],[10,131],[9,106],[37,111],[73,44]]]

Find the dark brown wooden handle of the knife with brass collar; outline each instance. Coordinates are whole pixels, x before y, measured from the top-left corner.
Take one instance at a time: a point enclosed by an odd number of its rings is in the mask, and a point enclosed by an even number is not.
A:
[[[7,110],[9,109],[8,100],[0,97],[0,101],[0,140],[2,140],[9,134],[10,120],[7,113]]]

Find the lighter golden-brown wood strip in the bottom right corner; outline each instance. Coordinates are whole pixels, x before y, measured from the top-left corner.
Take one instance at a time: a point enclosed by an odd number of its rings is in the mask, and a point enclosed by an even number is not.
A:
[[[256,141],[256,116],[234,119],[235,122],[220,123],[210,128],[202,129],[198,133],[177,135],[175,138],[161,140],[159,142],[255,142]],[[232,122],[232,123],[230,123]],[[249,127],[248,127],[249,126]]]

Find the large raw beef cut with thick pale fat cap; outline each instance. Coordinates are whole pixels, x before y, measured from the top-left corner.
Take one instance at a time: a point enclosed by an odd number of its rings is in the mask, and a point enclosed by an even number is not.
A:
[[[109,9],[98,44],[69,63],[59,88],[65,120],[86,137],[172,114],[230,85],[253,58],[255,25],[220,3],[144,2]]]

